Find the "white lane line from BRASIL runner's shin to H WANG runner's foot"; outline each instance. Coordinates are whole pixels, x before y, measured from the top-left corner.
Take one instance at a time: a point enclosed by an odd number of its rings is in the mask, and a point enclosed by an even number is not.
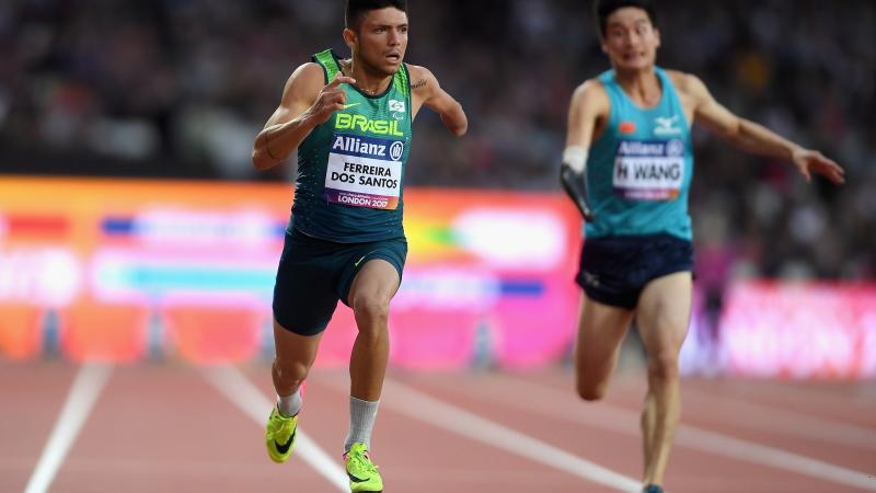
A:
[[[642,483],[633,478],[620,474],[537,438],[439,401],[405,385],[388,379],[383,388],[387,397],[381,400],[381,405],[388,405],[393,411],[405,414],[408,417],[614,490],[629,493],[642,491]]]

